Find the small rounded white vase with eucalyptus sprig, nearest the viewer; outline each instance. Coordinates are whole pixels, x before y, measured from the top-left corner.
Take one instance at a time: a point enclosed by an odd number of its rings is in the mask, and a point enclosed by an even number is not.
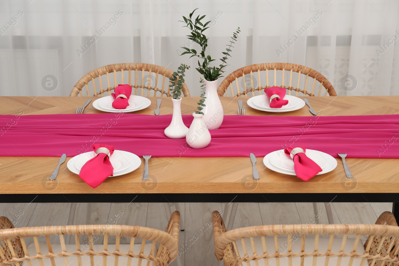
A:
[[[191,123],[190,129],[187,132],[186,142],[194,149],[202,149],[211,142],[211,134],[205,126],[202,114],[193,113],[194,119]]]

